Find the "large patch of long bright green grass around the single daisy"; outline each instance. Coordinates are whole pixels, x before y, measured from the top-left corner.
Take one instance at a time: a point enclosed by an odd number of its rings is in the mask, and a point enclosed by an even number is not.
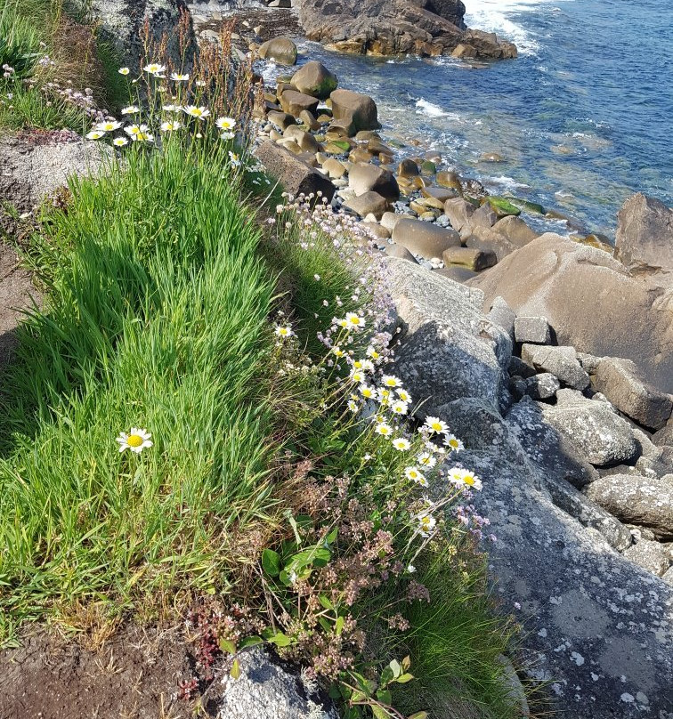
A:
[[[77,602],[222,587],[227,533],[269,508],[258,231],[223,158],[131,158],[73,186],[34,250],[47,311],[21,330],[0,408],[5,632]],[[118,454],[131,426],[153,434],[142,456]]]

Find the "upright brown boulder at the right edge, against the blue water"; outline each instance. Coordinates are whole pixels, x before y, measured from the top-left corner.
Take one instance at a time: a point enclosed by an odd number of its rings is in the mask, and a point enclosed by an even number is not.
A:
[[[673,270],[673,210],[639,192],[626,200],[617,219],[615,254],[623,263]]]

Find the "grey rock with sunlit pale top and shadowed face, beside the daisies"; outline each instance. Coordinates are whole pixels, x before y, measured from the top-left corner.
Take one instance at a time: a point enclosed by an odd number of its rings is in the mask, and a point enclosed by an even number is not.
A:
[[[389,289],[406,327],[395,371],[423,412],[460,397],[498,407],[512,343],[480,309],[482,296],[405,260],[391,259]]]

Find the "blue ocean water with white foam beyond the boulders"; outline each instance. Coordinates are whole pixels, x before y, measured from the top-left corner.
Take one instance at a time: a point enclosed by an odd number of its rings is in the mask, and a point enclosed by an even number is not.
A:
[[[613,236],[628,195],[673,205],[673,0],[464,0],[466,21],[519,47],[474,69],[450,58],[373,60],[305,44],[369,93],[385,133]],[[497,152],[506,161],[481,161]]]

